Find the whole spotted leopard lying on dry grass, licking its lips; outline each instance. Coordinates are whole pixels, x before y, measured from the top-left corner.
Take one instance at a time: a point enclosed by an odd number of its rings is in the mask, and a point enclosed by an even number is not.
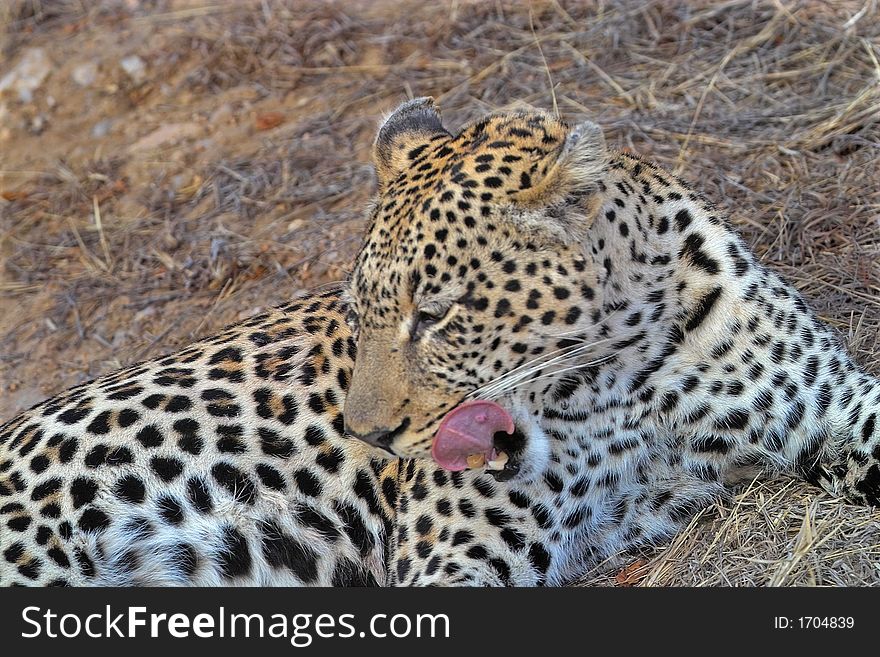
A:
[[[372,147],[349,280],[0,427],[0,584],[562,585],[744,473],[876,506],[880,382],[591,121]]]

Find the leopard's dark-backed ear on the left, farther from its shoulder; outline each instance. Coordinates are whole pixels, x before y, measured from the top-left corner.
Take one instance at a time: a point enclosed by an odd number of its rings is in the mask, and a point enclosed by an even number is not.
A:
[[[393,180],[432,141],[451,137],[440,121],[433,98],[416,98],[400,105],[385,119],[373,142],[373,163],[381,189]]]

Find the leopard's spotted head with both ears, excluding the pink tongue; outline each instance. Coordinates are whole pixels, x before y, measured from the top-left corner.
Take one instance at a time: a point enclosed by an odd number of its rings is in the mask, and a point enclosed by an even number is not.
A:
[[[496,435],[498,451],[522,453],[548,361],[601,307],[603,272],[584,247],[607,167],[601,130],[515,112],[452,134],[420,98],[384,122],[373,160],[378,195],[348,286],[348,432],[429,458],[452,409],[491,400],[516,427]]]

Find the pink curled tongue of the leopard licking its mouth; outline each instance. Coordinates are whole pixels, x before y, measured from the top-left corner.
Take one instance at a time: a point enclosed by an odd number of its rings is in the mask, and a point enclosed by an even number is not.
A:
[[[431,445],[431,456],[446,470],[466,470],[471,454],[482,454],[487,461],[495,458],[494,435],[513,430],[513,418],[495,402],[465,402],[443,418]]]

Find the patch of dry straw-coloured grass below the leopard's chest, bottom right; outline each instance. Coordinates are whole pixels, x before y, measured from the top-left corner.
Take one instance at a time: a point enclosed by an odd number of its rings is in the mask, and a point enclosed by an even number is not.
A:
[[[600,564],[589,586],[875,586],[880,517],[801,482],[752,482],[706,509],[668,546],[624,569]]]

